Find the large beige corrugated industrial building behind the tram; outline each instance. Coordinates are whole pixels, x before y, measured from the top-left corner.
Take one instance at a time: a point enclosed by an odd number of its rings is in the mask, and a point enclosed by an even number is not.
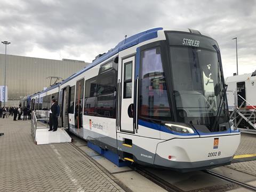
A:
[[[21,98],[42,91],[54,82],[60,82],[88,63],[79,60],[52,60],[6,55],[6,106],[18,106]],[[0,86],[4,85],[5,54],[0,54]],[[55,78],[58,77],[58,78]],[[1,105],[1,103],[0,103]],[[2,103],[3,106],[3,103]]]

